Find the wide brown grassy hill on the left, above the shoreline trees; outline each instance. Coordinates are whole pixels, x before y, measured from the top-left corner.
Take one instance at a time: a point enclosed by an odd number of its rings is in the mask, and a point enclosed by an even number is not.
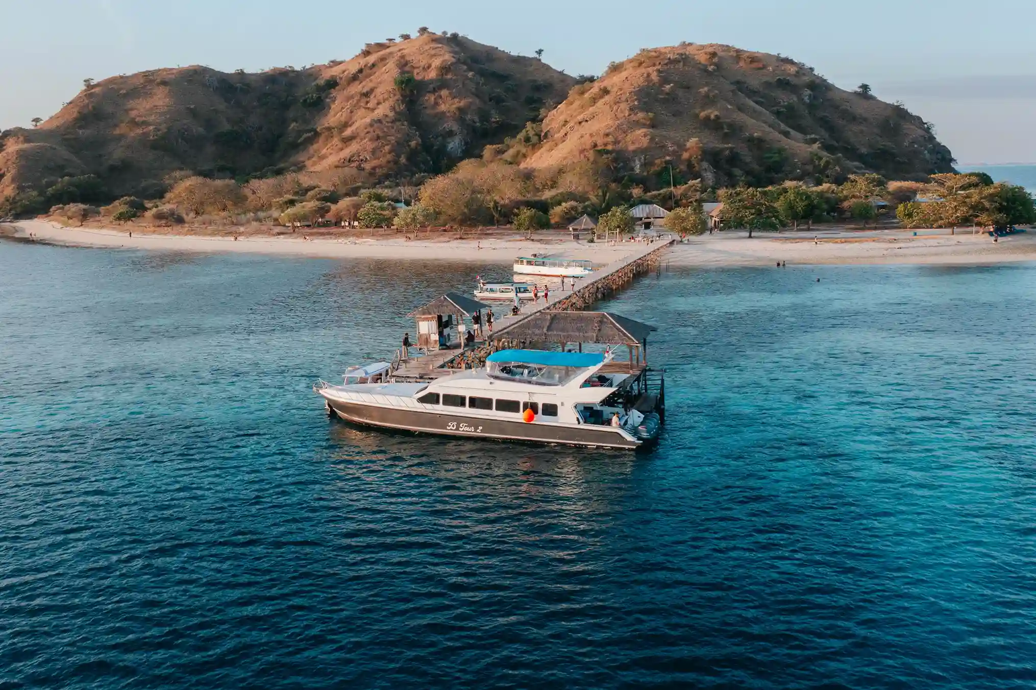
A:
[[[517,134],[574,83],[535,58],[431,33],[301,70],[113,77],[38,128],[3,133],[0,199],[83,174],[114,196],[151,197],[180,170],[440,172]]]

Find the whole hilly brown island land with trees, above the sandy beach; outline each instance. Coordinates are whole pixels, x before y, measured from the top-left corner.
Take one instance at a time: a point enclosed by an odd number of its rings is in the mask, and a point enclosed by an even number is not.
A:
[[[303,69],[87,79],[0,133],[0,215],[403,233],[587,215],[620,234],[638,205],[678,211],[680,234],[1036,220],[1024,191],[954,175],[901,104],[792,58],[681,44],[571,77],[543,53],[422,27]]]

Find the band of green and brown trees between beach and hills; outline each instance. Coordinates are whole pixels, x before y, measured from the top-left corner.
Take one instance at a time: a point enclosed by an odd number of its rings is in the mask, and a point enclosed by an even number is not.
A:
[[[708,227],[776,231],[825,223],[883,219],[906,228],[1000,227],[1036,222],[1033,198],[1020,186],[984,173],[943,173],[926,181],[889,181],[876,174],[838,181],[788,181],[765,188],[704,189],[701,180],[654,189],[635,176],[620,177],[607,156],[551,171],[527,171],[503,161],[471,160],[420,185],[373,185],[361,171],[299,172],[247,180],[173,174],[155,199],[112,200],[93,175],[65,177],[44,194],[21,197],[0,215],[40,215],[73,225],[272,229],[276,226],[388,228],[409,235],[421,229],[512,226],[526,236],[566,227],[588,214],[596,232],[633,231],[629,208],[656,204],[669,211],[668,231],[700,234]],[[106,201],[110,203],[105,203]],[[703,212],[710,203],[711,212]],[[717,206],[717,203],[719,204]],[[596,234],[596,233],[595,233]],[[593,240],[594,234],[589,239]]]

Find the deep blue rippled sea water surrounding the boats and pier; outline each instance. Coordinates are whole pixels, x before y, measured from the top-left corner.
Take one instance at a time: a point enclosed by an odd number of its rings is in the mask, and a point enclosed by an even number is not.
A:
[[[0,688],[1036,683],[1036,266],[641,280],[650,455],[324,416],[480,270],[0,243]]]

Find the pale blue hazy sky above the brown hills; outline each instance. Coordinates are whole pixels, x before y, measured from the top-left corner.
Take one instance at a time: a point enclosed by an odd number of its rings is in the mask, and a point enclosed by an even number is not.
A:
[[[934,122],[961,163],[1036,162],[1036,0],[0,0],[0,127],[141,69],[303,66],[457,31],[571,75],[681,40],[781,53]]]

